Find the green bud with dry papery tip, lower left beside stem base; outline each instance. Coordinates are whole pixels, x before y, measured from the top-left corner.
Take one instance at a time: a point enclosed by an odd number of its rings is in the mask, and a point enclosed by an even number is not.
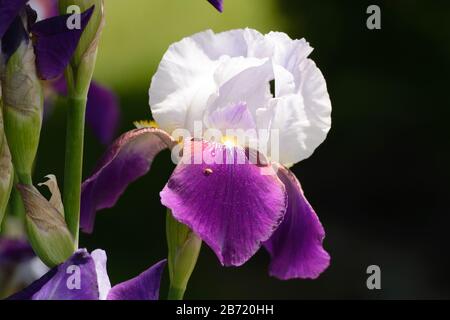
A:
[[[28,239],[34,252],[48,267],[63,263],[75,247],[62,212],[52,205],[55,198],[49,202],[30,185],[19,184],[17,188],[23,198]]]

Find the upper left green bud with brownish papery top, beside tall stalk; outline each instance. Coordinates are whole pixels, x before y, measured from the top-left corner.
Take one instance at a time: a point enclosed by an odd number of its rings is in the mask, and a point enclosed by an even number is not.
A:
[[[43,115],[43,90],[31,41],[22,41],[0,69],[4,130],[14,169],[21,183],[31,184]]]

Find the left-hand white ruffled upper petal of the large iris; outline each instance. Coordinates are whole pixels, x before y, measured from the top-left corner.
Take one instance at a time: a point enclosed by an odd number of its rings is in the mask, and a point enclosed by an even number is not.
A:
[[[152,79],[149,102],[153,117],[169,133],[193,129],[203,119],[207,101],[218,87],[244,69],[263,63],[243,59],[253,42],[264,37],[251,29],[214,34],[208,30],[171,45]],[[220,72],[216,70],[220,68]]]

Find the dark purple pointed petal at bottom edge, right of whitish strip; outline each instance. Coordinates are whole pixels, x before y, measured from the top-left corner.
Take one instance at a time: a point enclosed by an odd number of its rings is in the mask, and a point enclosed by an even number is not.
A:
[[[166,260],[160,261],[136,278],[114,286],[108,300],[158,300]]]

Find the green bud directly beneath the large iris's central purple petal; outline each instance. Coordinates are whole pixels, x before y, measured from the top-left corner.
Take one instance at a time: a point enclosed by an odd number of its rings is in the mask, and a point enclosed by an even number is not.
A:
[[[170,299],[180,300],[194,271],[202,240],[167,211],[167,245],[169,248]]]

